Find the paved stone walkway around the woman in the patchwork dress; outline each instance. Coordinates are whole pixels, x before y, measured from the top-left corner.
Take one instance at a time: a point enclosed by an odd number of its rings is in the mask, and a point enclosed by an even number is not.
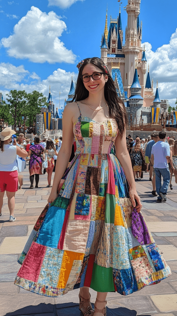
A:
[[[24,185],[15,195],[15,222],[9,222],[7,197],[0,217],[0,316],[82,316],[78,309],[79,289],[63,297],[49,298],[27,292],[14,285],[20,265],[17,258],[44,206],[51,188],[46,188],[47,175],[41,175],[39,188],[29,190],[29,173],[25,170]],[[177,185],[168,190],[166,203],[156,203],[151,195],[149,174],[137,182],[143,202],[142,213],[157,245],[164,251],[172,275],[159,284],[147,286],[128,296],[108,293],[107,316],[177,316]],[[91,289],[91,301],[96,293]]]

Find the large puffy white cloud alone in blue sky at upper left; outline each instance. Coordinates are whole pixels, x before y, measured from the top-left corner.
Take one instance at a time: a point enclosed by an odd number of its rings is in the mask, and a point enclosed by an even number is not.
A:
[[[48,14],[32,6],[15,25],[13,35],[1,43],[10,57],[29,59],[34,63],[71,63],[76,56],[58,37],[67,29],[55,12]]]

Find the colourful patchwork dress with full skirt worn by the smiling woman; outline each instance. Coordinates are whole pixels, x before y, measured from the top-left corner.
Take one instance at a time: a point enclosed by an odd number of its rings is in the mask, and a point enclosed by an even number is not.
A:
[[[83,286],[128,295],[171,274],[143,215],[132,208],[124,171],[111,148],[115,119],[82,116],[77,151],[56,200],[44,208],[18,262],[15,284],[61,296]]]

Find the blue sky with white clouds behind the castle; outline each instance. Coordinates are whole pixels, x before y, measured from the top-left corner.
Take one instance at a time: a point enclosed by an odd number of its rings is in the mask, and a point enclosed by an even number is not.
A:
[[[77,78],[76,64],[86,57],[100,57],[108,4],[110,15],[119,14],[117,0],[0,0],[0,91],[38,90],[60,106],[67,98],[71,75]],[[122,0],[124,30],[127,13]],[[161,99],[174,106],[177,97],[177,3],[142,0],[140,21],[150,77],[159,82]]]

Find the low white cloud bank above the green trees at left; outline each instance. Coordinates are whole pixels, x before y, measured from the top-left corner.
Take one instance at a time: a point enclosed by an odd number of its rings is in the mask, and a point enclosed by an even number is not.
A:
[[[0,64],[0,86],[3,92],[3,98],[6,100],[7,90],[25,90],[30,93],[34,90],[42,92],[44,96],[49,95],[49,86],[51,87],[52,100],[55,106],[59,105],[59,93],[60,94],[60,106],[64,105],[65,98],[68,98],[68,93],[71,86],[71,72],[67,72],[63,69],[58,68],[44,80],[40,80],[40,77],[35,73],[29,73],[28,70],[24,69],[24,66],[15,67],[12,64]],[[77,79],[77,75],[73,73],[73,80]],[[34,79],[31,82],[31,78]]]

